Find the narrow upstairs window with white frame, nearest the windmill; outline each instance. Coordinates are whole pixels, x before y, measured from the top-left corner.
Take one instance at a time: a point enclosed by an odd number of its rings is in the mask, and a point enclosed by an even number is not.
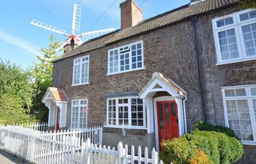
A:
[[[74,59],[73,85],[89,83],[89,55]]]

